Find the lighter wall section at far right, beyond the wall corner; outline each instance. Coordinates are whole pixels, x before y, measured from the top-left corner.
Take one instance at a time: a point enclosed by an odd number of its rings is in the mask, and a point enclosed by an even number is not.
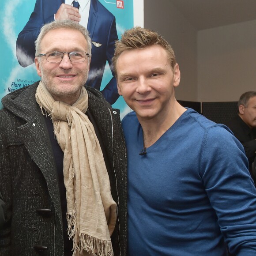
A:
[[[256,20],[198,32],[198,101],[237,101],[256,90]]]

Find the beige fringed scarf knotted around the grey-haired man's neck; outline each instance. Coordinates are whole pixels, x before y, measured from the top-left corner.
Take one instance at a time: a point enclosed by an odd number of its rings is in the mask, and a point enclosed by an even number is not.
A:
[[[54,101],[40,82],[35,97],[42,112],[51,116],[56,139],[64,152],[68,234],[73,239],[73,256],[112,256],[110,236],[116,224],[117,205],[111,196],[98,138],[84,114],[88,107],[87,90],[83,87],[71,106]]]

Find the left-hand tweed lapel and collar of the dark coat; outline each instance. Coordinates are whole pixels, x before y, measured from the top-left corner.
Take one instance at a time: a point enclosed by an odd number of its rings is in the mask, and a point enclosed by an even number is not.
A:
[[[49,135],[38,104],[35,101],[35,93],[38,83],[26,88],[26,94],[19,94],[9,110],[26,121],[20,126],[19,132],[30,157],[41,170],[48,186],[49,194],[53,200],[56,213],[61,217],[60,195],[56,177],[56,166],[53,151],[49,141]]]

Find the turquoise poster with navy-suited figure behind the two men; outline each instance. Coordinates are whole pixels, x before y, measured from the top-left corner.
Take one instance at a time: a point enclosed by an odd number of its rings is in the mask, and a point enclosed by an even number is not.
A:
[[[61,4],[72,2],[12,0],[10,4],[10,1],[4,1],[0,10],[0,99],[40,80],[34,65],[34,40],[42,24],[54,20]],[[107,101],[120,109],[122,118],[129,108],[117,94],[116,79],[110,68],[111,57],[114,41],[120,38],[124,30],[143,23],[143,0],[83,0],[79,12],[87,13],[88,18],[83,18],[81,14],[83,20],[80,23],[87,26],[92,38],[92,60],[87,83],[102,91]],[[136,13],[138,17],[135,17]]]

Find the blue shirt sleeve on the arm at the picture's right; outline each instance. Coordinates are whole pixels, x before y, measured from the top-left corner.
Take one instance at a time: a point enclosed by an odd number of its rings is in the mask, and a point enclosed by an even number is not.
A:
[[[256,188],[244,148],[226,129],[207,130],[200,176],[230,252],[256,255]]]

